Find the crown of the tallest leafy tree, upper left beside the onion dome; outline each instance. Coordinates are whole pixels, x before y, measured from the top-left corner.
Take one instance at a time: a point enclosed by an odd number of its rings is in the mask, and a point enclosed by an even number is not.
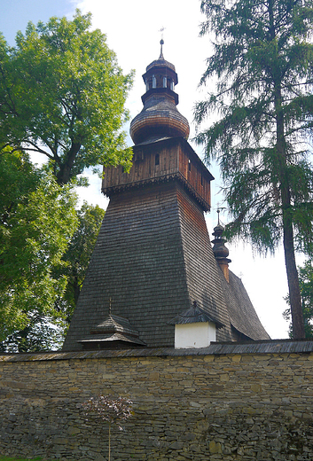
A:
[[[40,152],[59,184],[85,167],[129,168],[121,126],[132,74],[122,74],[90,14],[31,22],[11,48],[0,36],[0,150]]]

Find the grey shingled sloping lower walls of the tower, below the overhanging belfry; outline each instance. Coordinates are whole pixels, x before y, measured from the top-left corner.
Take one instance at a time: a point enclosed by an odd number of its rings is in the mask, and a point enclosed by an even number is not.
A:
[[[173,347],[168,324],[195,299],[228,324],[202,210],[177,181],[114,194],[90,261],[64,350],[112,313],[129,319],[148,347]]]

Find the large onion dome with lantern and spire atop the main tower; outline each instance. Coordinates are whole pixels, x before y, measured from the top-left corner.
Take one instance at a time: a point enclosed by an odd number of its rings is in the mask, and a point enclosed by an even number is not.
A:
[[[163,57],[163,40],[160,41],[160,57],[146,67],[143,75],[144,108],[130,123],[130,136],[135,145],[149,143],[162,137],[189,136],[189,123],[177,111],[178,82],[175,66]]]

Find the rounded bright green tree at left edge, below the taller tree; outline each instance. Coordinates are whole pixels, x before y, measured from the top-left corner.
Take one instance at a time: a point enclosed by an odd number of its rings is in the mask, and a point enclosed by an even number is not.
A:
[[[29,315],[54,316],[65,277],[62,264],[76,223],[75,195],[21,152],[0,152],[0,340],[28,324]]]

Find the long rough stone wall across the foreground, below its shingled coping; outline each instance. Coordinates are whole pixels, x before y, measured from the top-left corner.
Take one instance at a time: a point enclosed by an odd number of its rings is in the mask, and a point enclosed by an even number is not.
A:
[[[112,460],[309,461],[313,353],[123,351],[0,356],[0,454],[107,459],[106,423],[80,403],[133,401]]]

